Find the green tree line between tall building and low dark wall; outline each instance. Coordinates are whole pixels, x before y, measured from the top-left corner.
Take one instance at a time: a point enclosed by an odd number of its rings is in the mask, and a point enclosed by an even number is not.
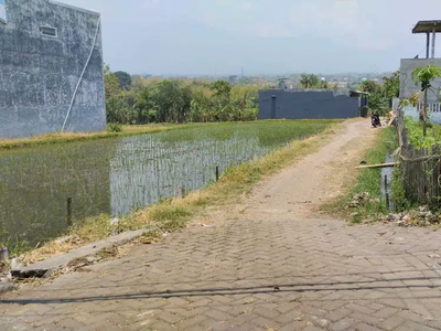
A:
[[[105,66],[107,120],[114,124],[247,121],[258,118],[259,85],[160,79]]]

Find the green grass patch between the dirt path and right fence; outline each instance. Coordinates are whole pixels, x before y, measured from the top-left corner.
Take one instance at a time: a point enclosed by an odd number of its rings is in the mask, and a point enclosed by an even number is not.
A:
[[[398,147],[396,128],[383,128],[375,138],[373,148],[364,157],[367,164],[385,162],[386,154],[394,152]],[[375,220],[378,215],[387,213],[386,202],[380,201],[381,170],[380,169],[352,169],[357,172],[354,180],[348,183],[345,194],[331,202],[325,209],[356,224],[365,220]],[[356,207],[348,207],[353,197],[361,193],[368,193],[369,199]]]

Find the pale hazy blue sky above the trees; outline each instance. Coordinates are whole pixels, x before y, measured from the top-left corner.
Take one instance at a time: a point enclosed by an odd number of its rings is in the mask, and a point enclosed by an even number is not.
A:
[[[441,20],[439,0],[60,1],[101,13],[105,62],[130,74],[396,71],[426,54],[415,24]]]

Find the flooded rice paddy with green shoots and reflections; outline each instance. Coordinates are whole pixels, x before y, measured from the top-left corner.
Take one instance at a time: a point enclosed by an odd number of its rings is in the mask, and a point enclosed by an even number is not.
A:
[[[198,190],[229,167],[322,132],[334,120],[202,127],[0,152],[0,246],[35,247],[73,223]]]

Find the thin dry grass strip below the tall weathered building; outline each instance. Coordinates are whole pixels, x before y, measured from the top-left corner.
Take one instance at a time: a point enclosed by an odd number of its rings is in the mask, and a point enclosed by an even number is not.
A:
[[[35,145],[51,145],[60,142],[84,141],[93,139],[105,139],[114,137],[125,137],[135,135],[144,135],[166,130],[182,129],[195,125],[144,125],[144,126],[122,126],[121,132],[100,131],[93,134],[47,134],[43,136],[34,136],[31,138],[0,139],[1,149],[25,148]]]

